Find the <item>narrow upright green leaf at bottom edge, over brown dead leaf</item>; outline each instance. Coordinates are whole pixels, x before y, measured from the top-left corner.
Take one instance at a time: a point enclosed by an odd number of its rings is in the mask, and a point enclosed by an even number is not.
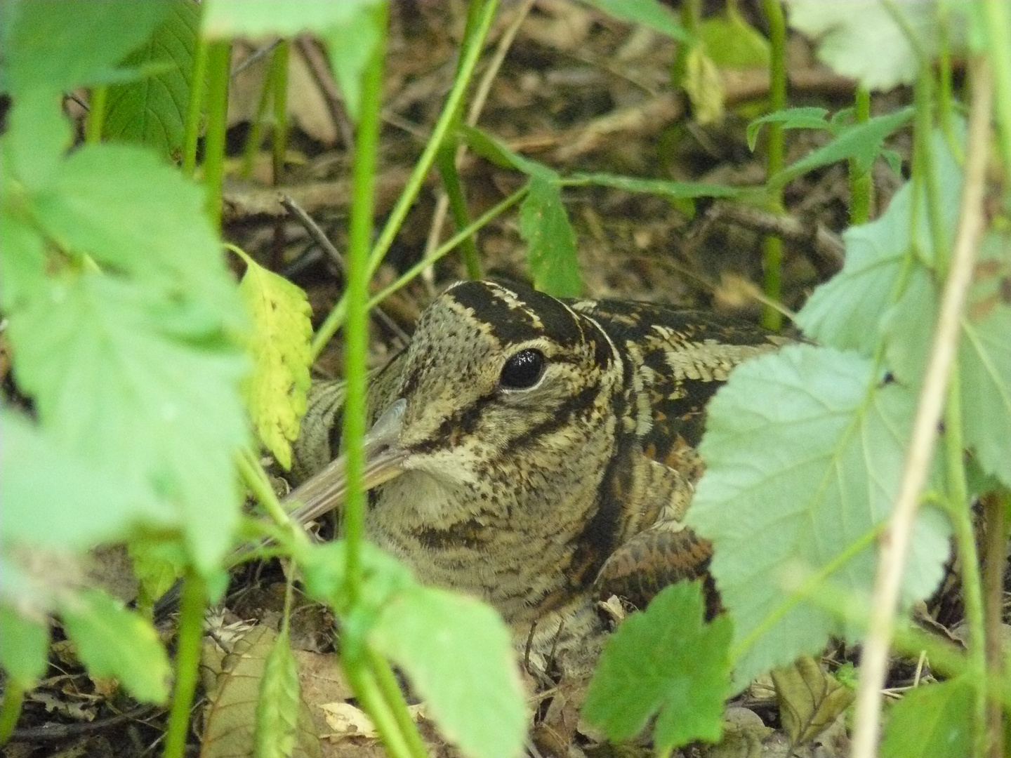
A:
[[[288,636],[279,635],[264,662],[253,733],[256,758],[289,758],[294,752],[301,712],[298,668]]]

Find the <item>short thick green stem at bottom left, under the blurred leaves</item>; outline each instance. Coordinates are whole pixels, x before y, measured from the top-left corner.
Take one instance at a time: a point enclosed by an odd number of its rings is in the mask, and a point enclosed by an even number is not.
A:
[[[172,692],[172,708],[165,731],[163,758],[183,758],[186,736],[189,734],[189,712],[196,691],[197,669],[200,665],[200,640],[203,638],[203,606],[206,586],[203,577],[188,571],[183,580],[179,612],[179,638],[176,646],[176,682]]]

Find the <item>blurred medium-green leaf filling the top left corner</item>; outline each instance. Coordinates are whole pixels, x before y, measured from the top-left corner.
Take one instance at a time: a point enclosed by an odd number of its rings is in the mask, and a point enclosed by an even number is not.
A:
[[[169,9],[165,0],[6,0],[0,5],[0,88],[16,100],[32,89],[55,94],[104,81]]]

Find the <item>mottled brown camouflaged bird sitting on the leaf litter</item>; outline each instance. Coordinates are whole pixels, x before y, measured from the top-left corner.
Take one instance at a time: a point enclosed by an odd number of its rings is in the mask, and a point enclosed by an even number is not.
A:
[[[521,647],[577,644],[599,595],[704,573],[709,546],[680,523],[706,404],[782,343],[702,311],[456,284],[372,378],[366,532],[422,581],[494,605]],[[335,504],[342,403],[339,382],[311,393],[303,518]]]

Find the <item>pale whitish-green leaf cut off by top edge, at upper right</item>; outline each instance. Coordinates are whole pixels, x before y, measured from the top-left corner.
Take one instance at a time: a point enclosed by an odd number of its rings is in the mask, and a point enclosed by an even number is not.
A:
[[[934,58],[942,38],[952,51],[963,48],[964,30],[952,23],[960,20],[958,5],[947,4],[945,34],[937,5],[936,1],[787,0],[790,25],[819,40],[818,58],[869,90],[912,84],[920,55]]]

